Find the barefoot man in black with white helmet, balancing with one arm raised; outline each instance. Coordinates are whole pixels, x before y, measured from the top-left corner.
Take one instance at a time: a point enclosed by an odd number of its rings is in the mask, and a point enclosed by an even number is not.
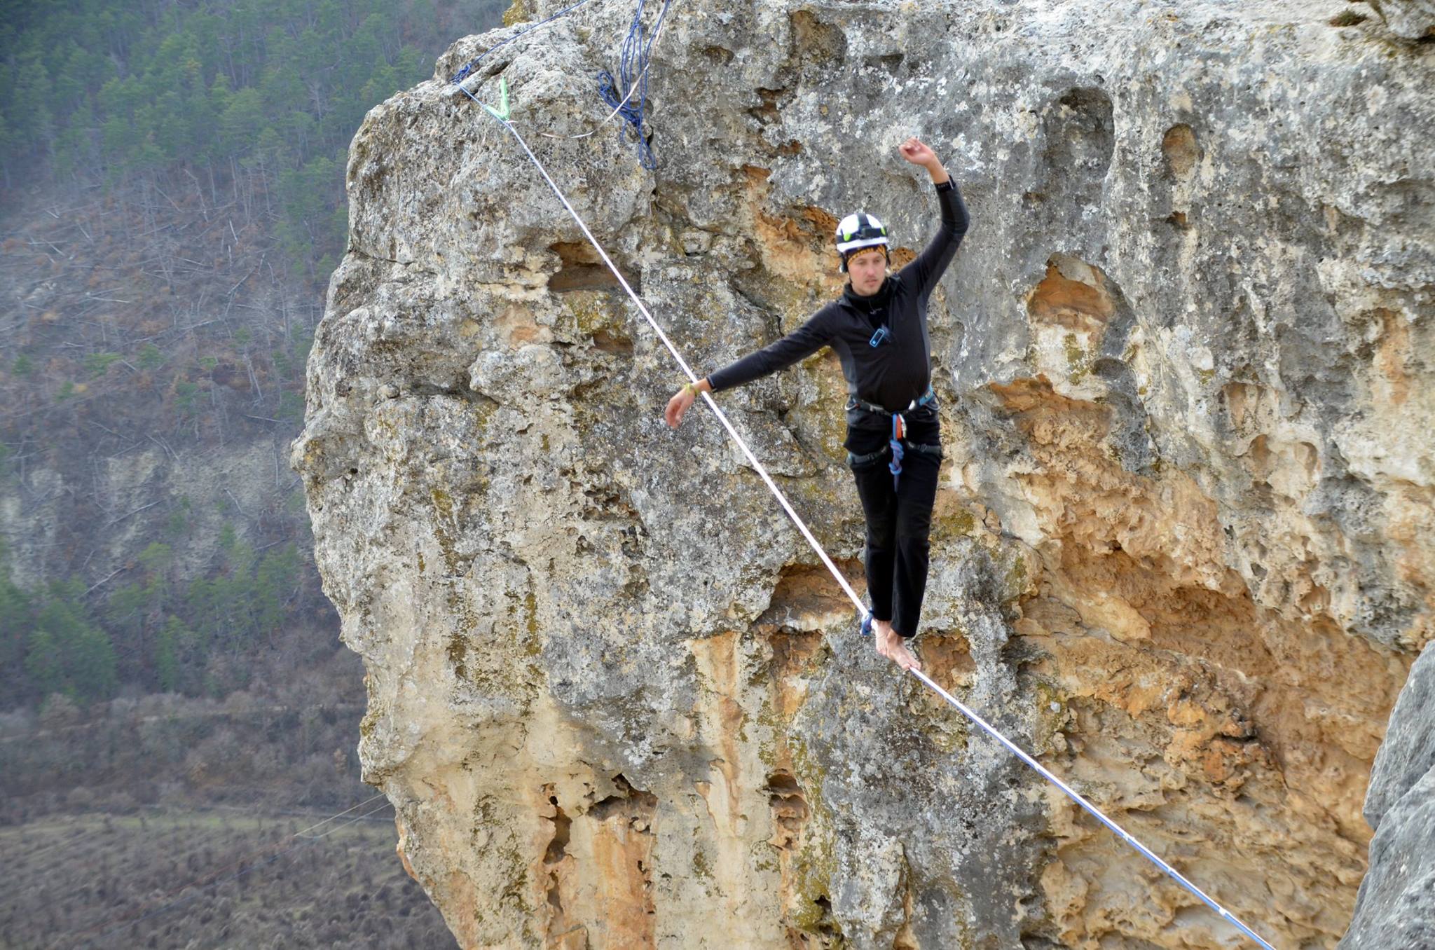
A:
[[[842,296],[781,340],[722,367],[674,395],[663,413],[677,428],[699,392],[719,392],[775,373],[824,346],[837,350],[847,377],[848,464],[867,518],[864,567],[877,652],[904,670],[921,669],[907,649],[927,588],[927,534],[937,498],[941,435],[931,393],[927,297],[967,232],[967,208],[936,154],[917,138],[901,156],[931,177],[941,227],[926,250],[888,274],[887,228],[858,211],[837,228]]]

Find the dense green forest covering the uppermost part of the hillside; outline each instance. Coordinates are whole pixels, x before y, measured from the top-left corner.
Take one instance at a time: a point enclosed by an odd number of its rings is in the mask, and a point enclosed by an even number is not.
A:
[[[6,0],[4,185],[192,185],[197,202],[258,221],[290,271],[323,280],[343,250],[344,151],[363,113],[502,6]]]

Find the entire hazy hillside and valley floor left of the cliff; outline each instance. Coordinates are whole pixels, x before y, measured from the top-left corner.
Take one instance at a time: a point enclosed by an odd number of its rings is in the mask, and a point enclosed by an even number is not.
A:
[[[505,6],[0,0],[0,947],[453,946],[287,445],[349,141]]]

